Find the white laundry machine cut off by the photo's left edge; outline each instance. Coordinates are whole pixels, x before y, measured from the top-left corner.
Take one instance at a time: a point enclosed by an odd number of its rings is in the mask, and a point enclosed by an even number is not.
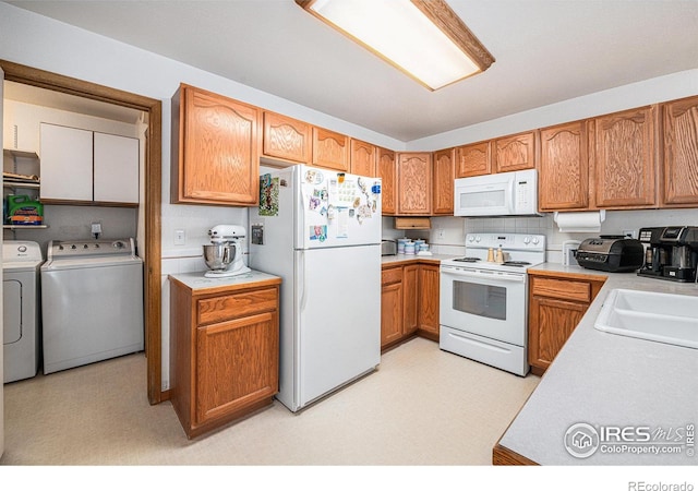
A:
[[[39,268],[44,258],[36,242],[2,242],[3,382],[35,376],[40,360]]]

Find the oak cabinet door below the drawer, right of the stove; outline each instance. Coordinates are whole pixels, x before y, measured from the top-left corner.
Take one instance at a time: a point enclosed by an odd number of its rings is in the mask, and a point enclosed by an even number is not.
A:
[[[531,297],[528,362],[539,369],[534,373],[541,374],[550,367],[588,307],[588,303]]]

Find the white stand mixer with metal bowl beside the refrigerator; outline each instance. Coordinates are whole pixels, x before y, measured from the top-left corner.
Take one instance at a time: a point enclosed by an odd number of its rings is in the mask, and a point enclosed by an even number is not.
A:
[[[242,275],[251,270],[242,261],[242,241],[246,232],[240,225],[216,225],[208,230],[210,246],[204,246],[207,278]]]

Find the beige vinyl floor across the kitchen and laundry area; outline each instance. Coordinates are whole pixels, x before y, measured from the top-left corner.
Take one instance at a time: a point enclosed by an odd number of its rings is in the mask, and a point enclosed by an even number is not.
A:
[[[5,452],[23,465],[490,465],[540,379],[412,339],[380,369],[299,414],[280,403],[188,440],[151,406],[143,354],[4,386]]]

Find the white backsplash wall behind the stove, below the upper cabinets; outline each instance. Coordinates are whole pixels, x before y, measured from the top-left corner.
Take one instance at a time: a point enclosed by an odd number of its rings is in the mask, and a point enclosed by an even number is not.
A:
[[[546,261],[562,263],[562,244],[566,240],[583,240],[599,235],[635,233],[642,227],[673,225],[698,225],[698,209],[638,209],[606,212],[601,231],[586,233],[561,232],[549,213],[535,217],[483,217],[461,218],[453,216],[433,217],[430,230],[396,230],[394,219],[383,218],[383,238],[408,237],[425,239],[437,254],[465,254],[465,236],[471,232],[541,233],[546,238]]]

